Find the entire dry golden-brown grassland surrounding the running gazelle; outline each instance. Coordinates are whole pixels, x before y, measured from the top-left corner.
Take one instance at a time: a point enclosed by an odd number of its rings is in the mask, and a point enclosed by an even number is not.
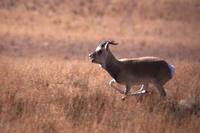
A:
[[[1,0],[0,132],[198,133],[199,12],[198,0]],[[150,86],[121,101],[87,60],[103,39],[117,57],[175,64],[167,98]]]

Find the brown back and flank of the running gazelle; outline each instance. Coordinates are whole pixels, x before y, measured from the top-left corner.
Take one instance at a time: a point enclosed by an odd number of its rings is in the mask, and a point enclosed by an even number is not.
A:
[[[120,59],[127,74],[137,79],[149,79],[164,84],[171,78],[168,63],[157,57]]]

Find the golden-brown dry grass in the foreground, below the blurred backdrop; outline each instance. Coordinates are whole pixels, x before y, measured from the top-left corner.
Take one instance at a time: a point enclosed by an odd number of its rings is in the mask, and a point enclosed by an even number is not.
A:
[[[121,101],[107,85],[110,77],[85,61],[1,61],[1,132],[199,131],[199,63],[175,61],[166,99],[151,87]]]

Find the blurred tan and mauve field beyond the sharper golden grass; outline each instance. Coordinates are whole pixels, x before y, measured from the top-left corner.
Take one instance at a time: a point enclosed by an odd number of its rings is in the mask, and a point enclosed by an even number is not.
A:
[[[120,43],[114,48],[120,57],[199,57],[200,2],[1,0],[0,29],[6,56],[86,59],[111,39]]]

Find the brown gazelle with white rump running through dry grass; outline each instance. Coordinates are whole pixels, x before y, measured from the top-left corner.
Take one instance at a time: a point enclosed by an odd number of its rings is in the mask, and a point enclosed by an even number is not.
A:
[[[109,45],[117,45],[114,41],[103,41],[96,50],[89,54],[92,63],[102,66],[113,78],[109,85],[115,90],[127,96],[141,95],[147,92],[149,83],[154,84],[161,97],[166,96],[164,85],[175,74],[175,67],[158,57],[140,57],[131,59],[116,59],[109,49]],[[125,85],[121,90],[113,83]],[[141,85],[141,88],[133,93],[130,89],[133,85]]]

